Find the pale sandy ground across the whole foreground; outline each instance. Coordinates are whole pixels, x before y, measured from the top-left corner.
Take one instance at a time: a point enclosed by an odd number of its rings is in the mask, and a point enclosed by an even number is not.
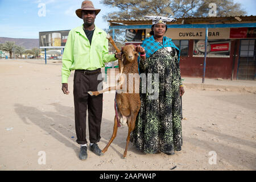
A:
[[[127,158],[122,159],[127,127],[121,127],[104,156],[88,150],[88,159],[81,161],[75,134],[73,73],[67,96],[61,91],[58,61],[46,65],[43,60],[0,60],[0,68],[0,170],[256,169],[255,87],[250,92],[208,89],[195,86],[199,83],[191,78],[186,85],[185,78],[181,151],[171,156],[143,154],[130,143]],[[255,81],[249,83],[256,86]],[[100,148],[113,132],[113,105],[114,94],[105,93]],[[46,154],[46,164],[39,164],[43,162],[40,151]]]

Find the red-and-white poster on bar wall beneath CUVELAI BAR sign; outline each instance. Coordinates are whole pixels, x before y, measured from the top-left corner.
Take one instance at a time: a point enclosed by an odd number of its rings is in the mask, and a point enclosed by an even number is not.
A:
[[[194,40],[193,55],[204,55],[205,41]],[[229,56],[230,41],[229,40],[208,40],[207,54],[218,56]]]

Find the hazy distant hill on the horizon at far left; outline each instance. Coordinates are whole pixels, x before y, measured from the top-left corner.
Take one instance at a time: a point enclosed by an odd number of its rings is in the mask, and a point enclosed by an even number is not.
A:
[[[23,46],[25,49],[39,47],[38,39],[0,38],[0,44],[5,43],[6,41],[15,42],[16,45]]]

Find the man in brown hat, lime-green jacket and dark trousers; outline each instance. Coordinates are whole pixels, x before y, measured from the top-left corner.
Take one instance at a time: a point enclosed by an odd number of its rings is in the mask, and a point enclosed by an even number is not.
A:
[[[81,145],[79,159],[87,158],[86,140],[86,110],[88,107],[88,124],[90,150],[96,155],[102,155],[97,142],[100,141],[100,128],[102,118],[102,94],[90,96],[88,91],[96,91],[100,81],[104,63],[117,60],[120,55],[109,55],[108,39],[106,32],[94,25],[94,19],[100,9],[94,9],[91,1],[83,1],[81,9],[76,10],[76,15],[84,20],[80,27],[73,28],[68,35],[68,40],[63,53],[62,90],[69,94],[68,77],[72,70],[74,75],[74,104],[76,142]]]

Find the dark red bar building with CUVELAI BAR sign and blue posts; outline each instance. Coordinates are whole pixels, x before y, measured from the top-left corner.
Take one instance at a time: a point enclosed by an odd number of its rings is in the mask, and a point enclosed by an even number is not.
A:
[[[144,36],[150,36],[151,20],[108,22],[112,30],[126,29],[126,44],[140,44]],[[207,78],[256,80],[256,16],[179,18],[167,27],[166,36],[181,50],[181,76],[203,77],[205,73]]]

